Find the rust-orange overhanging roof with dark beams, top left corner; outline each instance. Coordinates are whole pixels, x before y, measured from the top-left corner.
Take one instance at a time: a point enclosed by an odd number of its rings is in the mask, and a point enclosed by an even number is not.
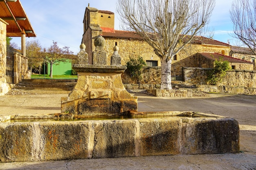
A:
[[[21,37],[24,32],[27,37],[36,37],[20,0],[0,0],[0,18],[8,23],[7,37]]]

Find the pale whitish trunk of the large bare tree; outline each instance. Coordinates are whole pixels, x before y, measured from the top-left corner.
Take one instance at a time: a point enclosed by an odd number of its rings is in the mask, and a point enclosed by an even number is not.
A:
[[[171,62],[172,60],[169,60],[166,62],[166,60],[161,61],[161,89],[172,89],[171,86]]]

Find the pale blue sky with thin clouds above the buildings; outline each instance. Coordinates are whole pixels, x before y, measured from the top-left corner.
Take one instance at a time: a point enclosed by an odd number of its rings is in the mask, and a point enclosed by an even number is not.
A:
[[[29,21],[37,35],[41,46],[49,47],[52,41],[58,42],[60,47],[70,46],[74,53],[80,51],[83,36],[83,16],[85,8],[95,7],[99,10],[115,13],[115,29],[119,29],[119,16],[116,13],[116,0],[20,0]],[[209,29],[214,29],[215,40],[231,45],[236,44],[232,33],[233,24],[229,17],[232,0],[216,0],[216,6],[211,16]],[[34,38],[26,38],[27,41]],[[13,38],[21,46],[20,38]]]

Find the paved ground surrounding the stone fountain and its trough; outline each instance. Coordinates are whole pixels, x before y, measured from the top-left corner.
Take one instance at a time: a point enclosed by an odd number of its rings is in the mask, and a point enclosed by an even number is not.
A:
[[[81,159],[0,163],[0,170],[256,170],[256,96],[209,94],[208,97],[169,98],[132,94],[138,111],[197,111],[234,117],[240,126],[240,153]],[[0,96],[0,115],[60,113],[61,97],[54,95]]]

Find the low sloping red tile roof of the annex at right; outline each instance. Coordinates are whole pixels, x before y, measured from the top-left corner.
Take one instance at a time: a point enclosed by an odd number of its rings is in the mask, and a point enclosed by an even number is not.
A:
[[[199,53],[199,54],[201,54],[206,58],[209,58],[210,60],[219,60],[220,58],[223,58],[223,61],[253,64],[252,62],[248,62],[246,60],[241,60],[238,58],[234,58],[234,57],[230,57],[230,56],[222,55],[218,53]]]

